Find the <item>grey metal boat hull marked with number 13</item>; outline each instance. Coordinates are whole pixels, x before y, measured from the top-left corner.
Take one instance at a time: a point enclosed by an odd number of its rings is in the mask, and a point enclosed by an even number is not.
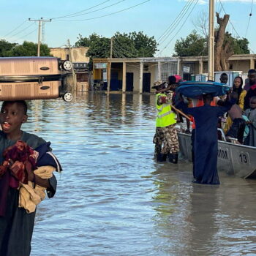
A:
[[[180,152],[192,162],[191,135],[178,132]],[[218,141],[218,170],[241,178],[256,178],[256,148]]]

